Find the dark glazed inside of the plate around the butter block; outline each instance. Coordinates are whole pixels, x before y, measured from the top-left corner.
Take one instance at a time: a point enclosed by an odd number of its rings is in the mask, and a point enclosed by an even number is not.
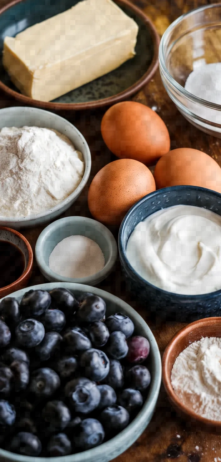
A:
[[[56,14],[68,10],[79,0],[23,0],[0,15],[0,55],[2,54],[5,36],[15,36],[33,24],[40,23]],[[136,55],[112,72],[99,77],[86,85],[69,91],[54,100],[55,103],[86,103],[114,96],[129,86],[134,85],[147,71],[153,59],[153,40],[150,30],[140,18],[129,9],[122,8],[139,26],[136,43]],[[0,80],[14,91],[18,89],[12,84],[2,66],[0,56]],[[19,91],[18,91],[19,92]]]

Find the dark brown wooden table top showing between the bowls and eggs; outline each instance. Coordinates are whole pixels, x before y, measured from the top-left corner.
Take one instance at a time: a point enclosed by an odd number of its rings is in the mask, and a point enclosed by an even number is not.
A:
[[[197,6],[211,3],[209,0],[133,0],[154,22],[160,35],[168,25],[184,12],[188,12]],[[8,1],[0,0],[0,6]],[[216,2],[213,2],[216,3]],[[178,112],[161,83],[160,73],[157,71],[151,82],[135,97],[135,101],[146,104],[150,108],[155,106],[156,112],[166,122],[170,137],[171,148],[191,147],[209,154],[221,166],[221,140],[204,134],[197,130]],[[0,93],[0,107],[18,105],[15,101]],[[100,168],[112,160],[115,160],[110,151],[105,147],[100,133],[100,122],[104,111],[84,112],[71,114],[61,113],[80,130],[85,136],[92,154],[92,171],[90,182]],[[74,203],[63,216],[81,215],[90,217],[87,207],[88,186],[84,189],[80,198]],[[35,243],[43,227],[21,230],[35,249]],[[118,230],[114,231],[117,237]],[[30,286],[47,282],[40,274],[37,265],[34,265]],[[184,326],[177,322],[160,322],[150,319],[148,308],[144,309],[135,299],[126,293],[125,284],[121,275],[120,264],[117,261],[115,273],[104,280],[100,288],[111,292],[133,306],[147,321],[153,330],[158,342],[160,352],[163,353],[168,341]],[[141,437],[117,458],[117,462],[160,462],[178,460],[178,462],[219,462],[221,461],[221,436],[216,433],[201,431],[191,428],[176,416],[166,398],[166,393],[161,387],[156,412],[146,431]]]

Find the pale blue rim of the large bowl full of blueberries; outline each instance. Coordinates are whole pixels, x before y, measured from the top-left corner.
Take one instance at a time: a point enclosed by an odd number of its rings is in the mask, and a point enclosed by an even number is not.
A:
[[[154,377],[153,380],[151,380],[151,385],[150,385],[150,390],[147,396],[147,399],[141,409],[141,411],[138,413],[138,415],[135,417],[135,419],[127,426],[122,432],[118,433],[117,436],[114,438],[111,438],[109,441],[100,444],[100,446],[97,446],[95,448],[92,448],[90,450],[86,450],[80,453],[76,454],[71,454],[69,456],[61,456],[61,457],[31,457],[31,456],[21,456],[18,454],[14,454],[13,452],[6,451],[3,449],[0,449],[0,456],[4,458],[4,460],[7,460],[9,462],[90,462],[91,458],[96,457],[105,457],[106,454],[113,448],[120,448],[122,446],[122,441],[123,438],[129,438],[131,440],[131,444],[129,443],[128,448],[134,443],[134,437],[133,434],[135,434],[135,430],[138,430],[143,424],[147,416],[151,415],[153,413],[154,408],[156,406],[156,402],[160,393],[160,384],[161,384],[161,357],[160,357],[160,350],[157,345],[157,341],[153,335],[153,332],[147,325],[147,323],[144,321],[144,319],[141,317],[141,315],[134,310],[129,304],[124,302],[121,298],[117,297],[116,295],[112,295],[110,292],[106,292],[102,289],[99,289],[98,287],[92,287],[92,286],[86,286],[85,284],[77,284],[77,283],[69,283],[69,282],[50,282],[46,284],[38,284],[36,286],[30,286],[26,287],[25,289],[21,289],[19,291],[13,292],[10,294],[10,297],[21,297],[27,290],[37,290],[37,289],[42,289],[42,290],[52,290],[57,287],[65,287],[66,289],[74,291],[79,291],[79,292],[92,292],[95,295],[99,295],[100,297],[104,297],[106,300],[115,303],[118,305],[118,307],[122,308],[129,314],[131,314],[133,317],[137,319],[137,322],[141,324],[143,329],[147,332],[148,335],[148,340],[151,345],[152,349],[152,354],[154,358]],[[7,296],[6,296],[7,297]],[[4,297],[5,298],[5,297]],[[1,301],[2,299],[0,299]],[[134,432],[131,435],[131,432],[134,430]],[[138,437],[136,437],[137,439]],[[119,452],[121,454],[121,452]]]

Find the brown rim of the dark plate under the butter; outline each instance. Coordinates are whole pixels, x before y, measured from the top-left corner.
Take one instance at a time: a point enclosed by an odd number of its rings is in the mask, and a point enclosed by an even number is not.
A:
[[[23,2],[23,1],[25,0],[12,0],[9,4],[0,8],[0,15],[4,13],[6,10],[8,10],[9,8],[11,8],[12,6],[15,6],[18,3]],[[141,88],[144,85],[147,85],[150,79],[152,79],[154,73],[156,72],[159,66],[158,52],[159,52],[159,45],[160,45],[160,36],[153,22],[151,21],[151,19],[148,18],[147,15],[144,12],[142,12],[140,8],[133,5],[129,0],[114,0],[114,1],[120,6],[127,6],[132,12],[134,12],[144,22],[146,27],[149,28],[151,37],[153,40],[152,61],[150,63],[150,66],[147,68],[147,71],[144,73],[144,75],[139,80],[137,80],[137,82],[129,86],[126,90],[123,90],[120,93],[117,93],[116,95],[113,95],[111,97],[107,97],[104,99],[94,100],[94,101],[87,102],[87,103],[51,103],[51,102],[44,102],[41,100],[32,99],[28,96],[18,93],[18,91],[12,90],[7,85],[5,85],[1,80],[0,80],[0,89],[22,103],[29,104],[31,106],[36,106],[42,109],[49,109],[49,110],[62,110],[62,109],[63,110],[64,109],[84,110],[84,109],[103,108],[111,104],[119,103],[120,101],[123,101],[126,98],[129,98],[130,96],[132,96],[134,93],[140,91]]]

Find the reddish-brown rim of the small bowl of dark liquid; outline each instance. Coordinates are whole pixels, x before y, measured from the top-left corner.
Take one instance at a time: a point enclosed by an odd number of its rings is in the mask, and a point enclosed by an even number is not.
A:
[[[26,268],[24,269],[23,273],[21,274],[21,276],[18,279],[16,279],[11,284],[8,284],[8,286],[4,286],[4,287],[0,288],[0,298],[1,298],[4,292],[6,292],[6,291],[11,292],[13,289],[16,289],[16,287],[19,286],[22,282],[24,282],[27,275],[31,273],[34,258],[33,258],[33,252],[32,252],[32,249],[31,249],[31,245],[28,242],[28,240],[26,239],[26,237],[23,236],[23,234],[21,234],[20,232],[18,232],[16,230],[13,230],[12,228],[8,228],[7,226],[0,226],[0,231],[9,231],[9,232],[11,232],[11,234],[15,234],[16,236],[18,236],[21,239],[21,241],[23,241],[25,243],[25,246],[26,246],[26,248],[28,250],[28,263],[27,263]]]

